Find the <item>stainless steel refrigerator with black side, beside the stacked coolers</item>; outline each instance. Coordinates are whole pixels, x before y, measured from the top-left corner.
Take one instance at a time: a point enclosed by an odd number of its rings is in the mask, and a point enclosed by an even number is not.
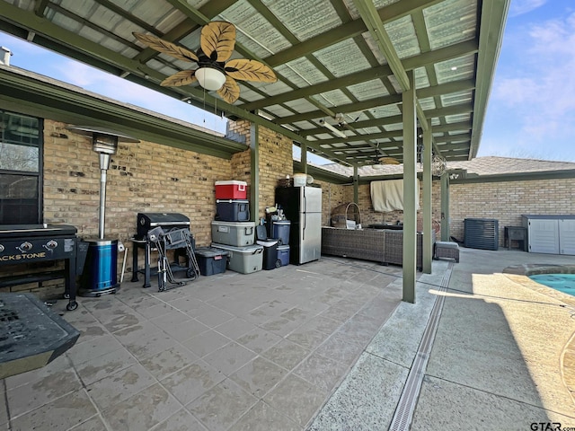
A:
[[[289,262],[300,265],[320,259],[322,254],[322,189],[279,187],[276,203],[291,222]]]

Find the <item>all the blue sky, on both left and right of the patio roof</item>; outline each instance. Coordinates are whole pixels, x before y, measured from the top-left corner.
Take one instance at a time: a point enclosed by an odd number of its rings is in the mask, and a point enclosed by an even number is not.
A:
[[[225,133],[226,119],[0,32],[11,64]],[[478,156],[575,162],[575,2],[512,0]]]

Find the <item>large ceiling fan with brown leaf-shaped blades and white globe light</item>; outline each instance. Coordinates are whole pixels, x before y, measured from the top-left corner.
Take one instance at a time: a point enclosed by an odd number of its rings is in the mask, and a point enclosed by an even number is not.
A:
[[[132,34],[156,51],[198,65],[196,69],[182,70],[168,76],[160,84],[162,86],[177,87],[197,81],[206,90],[217,90],[222,99],[234,103],[240,97],[240,86],[235,80],[260,83],[275,83],[278,80],[273,70],[260,61],[247,58],[229,59],[234,53],[235,45],[235,26],[231,22],[214,21],[204,25],[196,53],[149,34]]]

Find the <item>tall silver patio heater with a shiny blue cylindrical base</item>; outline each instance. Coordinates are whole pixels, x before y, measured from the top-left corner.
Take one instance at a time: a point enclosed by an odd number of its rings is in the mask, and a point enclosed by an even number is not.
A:
[[[100,212],[98,238],[84,239],[88,242],[88,252],[84,271],[80,278],[78,295],[101,296],[115,294],[118,283],[118,240],[105,238],[106,220],[106,178],[110,168],[111,155],[116,154],[118,142],[139,142],[130,136],[123,136],[111,130],[93,127],[75,126],[69,128],[76,133],[92,136],[92,149],[100,155]]]

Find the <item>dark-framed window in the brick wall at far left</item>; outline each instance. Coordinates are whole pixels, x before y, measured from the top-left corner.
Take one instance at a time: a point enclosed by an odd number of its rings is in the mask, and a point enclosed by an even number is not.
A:
[[[0,110],[0,224],[40,224],[41,119]]]

